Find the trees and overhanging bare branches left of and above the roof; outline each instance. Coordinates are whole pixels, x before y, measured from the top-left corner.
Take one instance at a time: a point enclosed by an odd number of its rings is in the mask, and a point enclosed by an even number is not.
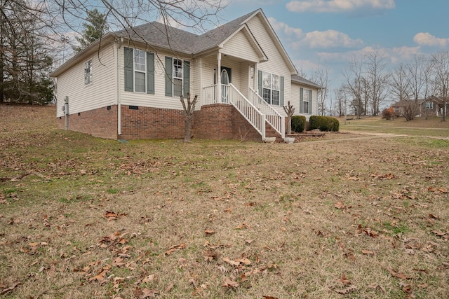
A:
[[[133,34],[153,20],[201,30],[222,8],[221,0],[0,0],[0,104],[54,101],[50,74],[66,61],[66,46],[76,53],[109,28]]]

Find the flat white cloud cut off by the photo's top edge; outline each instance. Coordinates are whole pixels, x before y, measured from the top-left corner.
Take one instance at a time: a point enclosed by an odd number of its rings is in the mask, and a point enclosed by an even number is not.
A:
[[[394,0],[293,0],[286,4],[289,11],[304,13],[352,13],[368,11],[377,13],[395,8]]]

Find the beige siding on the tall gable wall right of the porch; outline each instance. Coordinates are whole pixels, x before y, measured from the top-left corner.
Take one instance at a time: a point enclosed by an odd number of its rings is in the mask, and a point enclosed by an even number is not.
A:
[[[255,39],[259,42],[260,46],[264,50],[265,55],[268,57],[267,62],[262,62],[258,64],[257,69],[259,71],[267,71],[272,74],[280,75],[284,77],[284,105],[287,104],[291,97],[291,73],[287,62],[281,55],[281,49],[277,48],[275,45],[277,43],[276,39],[272,38],[269,34],[269,28],[264,27],[264,24],[260,20],[261,17],[252,18],[248,22],[248,27],[255,36]],[[286,113],[283,111],[282,106],[273,106],[276,111],[285,116]]]

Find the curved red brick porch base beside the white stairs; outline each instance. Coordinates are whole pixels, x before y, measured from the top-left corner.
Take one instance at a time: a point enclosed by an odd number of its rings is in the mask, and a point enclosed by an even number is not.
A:
[[[212,104],[194,112],[194,138],[262,141],[260,134],[234,106]]]

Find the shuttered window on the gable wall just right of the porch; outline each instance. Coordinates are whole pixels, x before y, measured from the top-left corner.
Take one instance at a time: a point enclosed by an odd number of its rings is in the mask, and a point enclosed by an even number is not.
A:
[[[259,95],[268,104],[283,106],[283,76],[259,71]]]

